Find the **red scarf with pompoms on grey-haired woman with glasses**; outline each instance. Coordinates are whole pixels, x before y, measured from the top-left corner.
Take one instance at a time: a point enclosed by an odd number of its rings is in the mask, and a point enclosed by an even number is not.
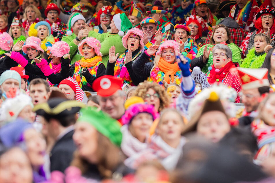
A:
[[[228,62],[224,67],[220,70],[215,69],[214,64],[211,66],[210,75],[207,77],[208,83],[213,84],[215,82],[223,82],[226,78],[226,75],[229,73],[232,67],[235,67],[232,61]]]

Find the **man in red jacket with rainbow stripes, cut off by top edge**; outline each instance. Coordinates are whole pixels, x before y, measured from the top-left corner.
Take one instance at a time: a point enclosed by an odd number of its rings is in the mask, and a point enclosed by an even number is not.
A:
[[[237,0],[230,10],[229,17],[233,18],[241,28],[250,31],[253,26],[253,18],[259,9],[255,0]]]

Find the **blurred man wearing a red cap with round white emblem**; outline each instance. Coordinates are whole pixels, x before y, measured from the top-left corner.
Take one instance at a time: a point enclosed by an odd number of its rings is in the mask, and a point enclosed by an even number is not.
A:
[[[92,85],[93,90],[97,92],[102,111],[119,122],[121,122],[121,117],[125,112],[125,95],[124,91],[121,90],[122,82],[121,78],[105,75],[97,78]]]

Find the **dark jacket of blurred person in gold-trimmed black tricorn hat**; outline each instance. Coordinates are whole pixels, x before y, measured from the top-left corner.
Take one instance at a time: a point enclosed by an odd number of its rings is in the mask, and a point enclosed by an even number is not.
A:
[[[73,142],[73,132],[74,130],[69,131],[54,144],[50,153],[51,172],[55,170],[64,172],[70,166],[73,153],[76,150],[75,143]]]

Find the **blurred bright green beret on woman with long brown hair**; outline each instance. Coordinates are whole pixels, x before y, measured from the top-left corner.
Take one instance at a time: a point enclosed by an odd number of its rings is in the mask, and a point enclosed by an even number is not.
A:
[[[80,117],[77,119],[77,123],[83,122],[91,124],[114,145],[120,147],[122,133],[117,120],[113,119],[103,111],[98,111],[91,107],[85,107],[80,110]]]

